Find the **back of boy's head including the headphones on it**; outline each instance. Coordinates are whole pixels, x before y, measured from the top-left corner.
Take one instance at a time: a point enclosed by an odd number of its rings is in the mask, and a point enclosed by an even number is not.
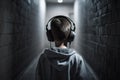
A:
[[[48,29],[48,24],[50,23],[51,29]],[[46,34],[48,41],[53,42],[57,46],[67,42],[72,42],[75,37],[75,24],[74,22],[66,16],[55,16],[51,18],[46,25]]]

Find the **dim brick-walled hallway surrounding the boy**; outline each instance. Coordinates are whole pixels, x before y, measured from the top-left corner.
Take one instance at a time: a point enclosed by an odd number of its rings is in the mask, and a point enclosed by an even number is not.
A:
[[[61,5],[66,12],[50,12]],[[0,0],[0,80],[35,80],[39,55],[49,47],[45,24],[57,14],[75,21],[72,47],[98,80],[120,80],[120,1],[74,0],[54,6],[49,0]]]

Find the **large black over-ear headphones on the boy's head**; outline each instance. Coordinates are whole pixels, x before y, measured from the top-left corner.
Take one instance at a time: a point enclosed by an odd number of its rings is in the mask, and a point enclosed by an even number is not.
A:
[[[70,18],[68,18],[68,17],[66,17],[66,16],[62,16],[62,15],[52,17],[52,18],[48,21],[48,23],[46,24],[46,35],[47,35],[48,41],[50,41],[50,42],[53,42],[53,41],[54,41],[54,38],[53,38],[53,35],[52,35],[52,31],[51,31],[51,29],[48,29],[48,24],[49,24],[54,18],[65,18],[65,19],[68,20],[68,22],[70,22],[70,24],[71,24],[70,34],[69,34],[69,36],[68,36],[68,38],[67,38],[67,42],[70,42],[70,43],[71,43],[71,42],[74,40],[74,38],[75,38],[75,29],[76,29],[75,23],[74,23]]]

